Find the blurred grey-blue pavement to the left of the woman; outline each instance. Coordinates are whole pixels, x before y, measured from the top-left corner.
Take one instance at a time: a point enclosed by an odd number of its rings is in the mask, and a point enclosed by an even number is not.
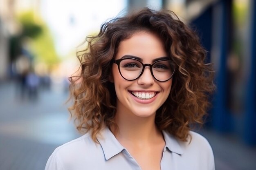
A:
[[[44,170],[54,148],[79,136],[69,121],[68,95],[42,90],[29,101],[15,88],[0,84],[0,170]]]

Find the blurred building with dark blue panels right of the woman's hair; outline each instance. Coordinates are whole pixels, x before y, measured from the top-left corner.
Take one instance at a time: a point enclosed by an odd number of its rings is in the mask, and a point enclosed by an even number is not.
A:
[[[256,1],[128,0],[128,9],[174,11],[195,29],[216,69],[216,94],[207,126],[256,145]]]

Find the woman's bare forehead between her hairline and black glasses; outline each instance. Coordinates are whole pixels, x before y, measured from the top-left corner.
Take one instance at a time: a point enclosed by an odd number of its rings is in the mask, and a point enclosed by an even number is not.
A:
[[[151,32],[137,32],[120,42],[115,59],[124,55],[140,57],[143,61],[167,56],[162,40]]]

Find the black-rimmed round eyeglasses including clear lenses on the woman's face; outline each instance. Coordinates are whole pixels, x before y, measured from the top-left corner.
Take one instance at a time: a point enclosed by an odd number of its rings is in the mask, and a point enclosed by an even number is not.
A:
[[[168,81],[175,72],[175,64],[171,60],[159,60],[153,64],[143,64],[134,58],[122,58],[113,60],[113,62],[117,64],[120,75],[128,81],[139,78],[146,66],[150,67],[151,75],[159,82]]]

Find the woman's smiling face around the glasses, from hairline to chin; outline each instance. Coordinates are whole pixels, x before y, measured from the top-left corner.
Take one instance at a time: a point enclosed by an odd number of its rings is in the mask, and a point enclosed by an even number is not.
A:
[[[167,53],[157,35],[138,32],[131,38],[120,42],[115,60],[128,57],[127,55],[138,58],[143,64],[152,64],[160,57],[166,57]],[[137,67],[136,65],[130,66],[132,69]],[[166,82],[157,81],[152,77],[148,66],[145,67],[141,77],[128,81],[121,77],[117,64],[113,64],[112,78],[117,94],[117,114],[154,117],[157,109],[164,104],[171,91],[172,79]]]

